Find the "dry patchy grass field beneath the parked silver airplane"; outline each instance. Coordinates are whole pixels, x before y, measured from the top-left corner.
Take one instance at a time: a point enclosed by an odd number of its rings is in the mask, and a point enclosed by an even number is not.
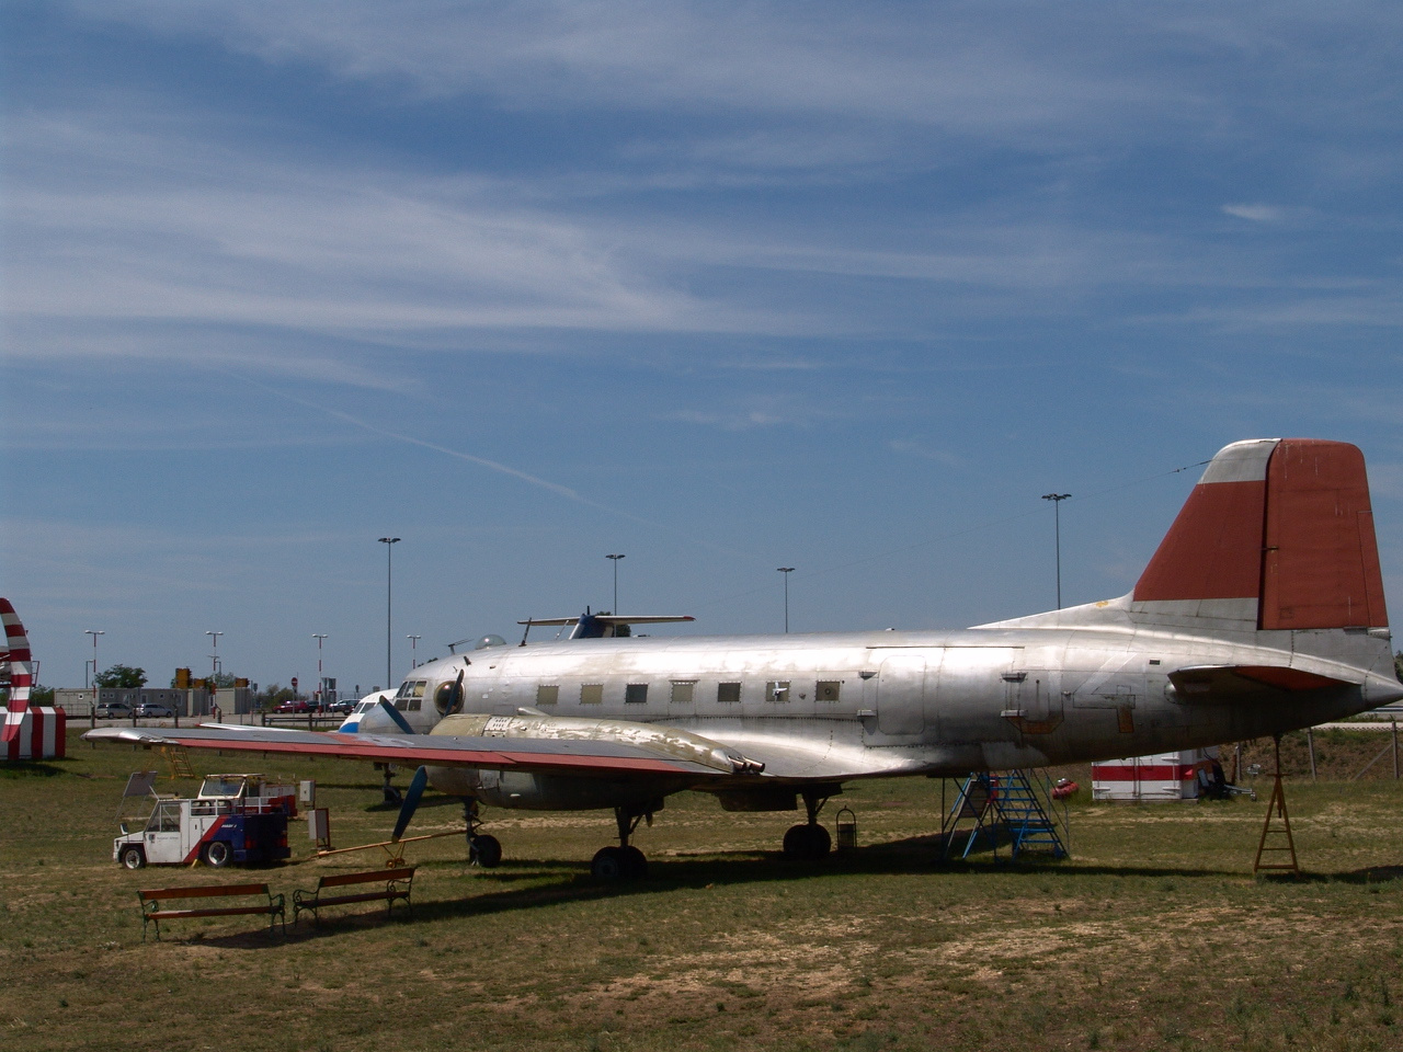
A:
[[[1383,743],[1354,736],[1330,739],[1341,770]],[[1365,759],[1338,759],[1351,750]],[[373,770],[276,763],[261,769],[317,780],[337,846],[391,826]],[[347,908],[286,938],[257,917],[189,920],[143,943],[139,886],[230,877],[111,861],[128,773],[161,764],[74,736],[66,760],[0,767],[0,1049],[1403,1048],[1403,783],[1388,763],[1389,777],[1288,781],[1301,879],[1251,875],[1266,780],[1260,802],[1083,790],[1070,860],[961,867],[934,864],[941,783],[905,780],[840,798],[860,850],[825,864],[779,858],[793,814],[687,794],[640,829],[650,878],[603,886],[588,861],[607,814],[487,812],[498,870],[470,868],[460,837],[408,849],[412,920]],[[457,825],[443,802],[411,832]],[[304,860],[306,826],[292,832]],[[379,861],[250,875],[290,903],[321,872]]]

